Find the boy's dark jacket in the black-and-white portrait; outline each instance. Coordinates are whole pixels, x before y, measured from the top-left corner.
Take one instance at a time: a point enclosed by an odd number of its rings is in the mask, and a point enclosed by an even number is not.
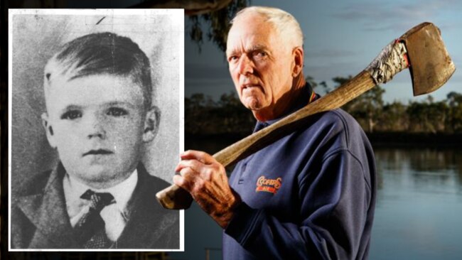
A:
[[[169,184],[149,175],[140,163],[138,183],[129,201],[129,221],[117,240],[117,249],[179,249],[179,212],[165,210],[157,191]],[[63,192],[65,170],[36,175],[14,200],[11,209],[12,249],[78,249]]]

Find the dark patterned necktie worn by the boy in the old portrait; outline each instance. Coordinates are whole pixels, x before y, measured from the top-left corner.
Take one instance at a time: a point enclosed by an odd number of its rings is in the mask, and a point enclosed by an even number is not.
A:
[[[112,243],[106,236],[100,212],[115,202],[114,197],[111,193],[95,193],[92,190],[87,190],[80,197],[90,200],[90,208],[74,227],[78,242],[86,249],[108,248]]]

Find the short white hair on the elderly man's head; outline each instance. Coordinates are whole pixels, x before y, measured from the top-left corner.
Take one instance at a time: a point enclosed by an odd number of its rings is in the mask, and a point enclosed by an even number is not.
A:
[[[231,23],[239,20],[240,16],[247,13],[257,13],[264,17],[265,21],[272,23],[279,36],[283,39],[291,40],[289,42],[293,43],[294,47],[303,46],[303,33],[300,24],[290,13],[273,7],[250,6],[239,11]]]

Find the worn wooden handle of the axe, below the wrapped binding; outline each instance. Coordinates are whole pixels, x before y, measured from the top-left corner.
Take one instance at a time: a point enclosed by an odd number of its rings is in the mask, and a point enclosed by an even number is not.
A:
[[[306,107],[284,117],[284,119],[247,136],[245,139],[227,146],[227,148],[215,153],[213,157],[223,166],[229,166],[299,129],[299,126],[305,124],[306,119],[312,114],[337,109],[360,94],[370,90],[372,87],[375,87],[375,85],[370,72],[363,70],[356,77],[353,77],[353,79],[320,99],[311,102]],[[159,191],[156,197],[163,207],[171,210],[187,209],[193,200],[186,190],[179,188],[177,185],[171,185]]]

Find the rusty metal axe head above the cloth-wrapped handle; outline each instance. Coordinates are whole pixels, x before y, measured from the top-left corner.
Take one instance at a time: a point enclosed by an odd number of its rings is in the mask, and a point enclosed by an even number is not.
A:
[[[414,96],[439,89],[456,70],[433,23],[421,23],[404,33]]]

